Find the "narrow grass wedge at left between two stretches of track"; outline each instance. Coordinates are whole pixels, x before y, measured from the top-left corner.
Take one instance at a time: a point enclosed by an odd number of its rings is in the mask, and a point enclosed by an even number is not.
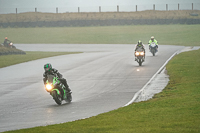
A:
[[[1,55],[0,56],[0,68],[27,62],[31,60],[37,60],[46,57],[65,55],[65,54],[76,54],[78,52],[30,52],[27,51],[23,55]]]

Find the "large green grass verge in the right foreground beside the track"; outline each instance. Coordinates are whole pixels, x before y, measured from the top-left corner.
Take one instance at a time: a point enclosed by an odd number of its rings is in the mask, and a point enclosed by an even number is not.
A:
[[[88,119],[11,131],[13,133],[199,133],[200,50],[168,64],[170,81],[152,99]]]

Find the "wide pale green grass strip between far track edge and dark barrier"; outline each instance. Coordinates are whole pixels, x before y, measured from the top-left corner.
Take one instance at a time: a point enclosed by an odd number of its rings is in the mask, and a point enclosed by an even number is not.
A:
[[[0,28],[0,36],[22,44],[147,44],[200,46],[200,25],[130,25],[99,27]]]

